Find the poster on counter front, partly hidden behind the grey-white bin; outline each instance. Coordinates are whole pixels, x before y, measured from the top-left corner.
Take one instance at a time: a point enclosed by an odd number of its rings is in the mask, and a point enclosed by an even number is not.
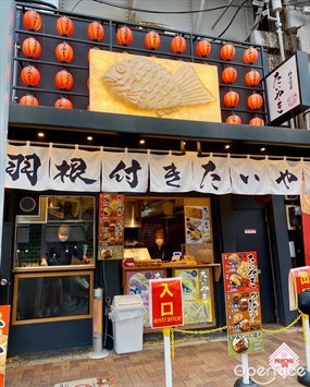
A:
[[[125,294],[140,294],[142,304],[146,306],[144,328],[150,328],[149,319],[149,280],[166,278],[165,269],[150,269],[142,271],[126,271]]]

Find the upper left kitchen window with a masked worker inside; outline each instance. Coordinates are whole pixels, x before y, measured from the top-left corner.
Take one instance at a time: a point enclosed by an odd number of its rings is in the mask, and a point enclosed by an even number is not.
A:
[[[16,217],[15,267],[94,265],[95,198],[40,196],[39,211]]]

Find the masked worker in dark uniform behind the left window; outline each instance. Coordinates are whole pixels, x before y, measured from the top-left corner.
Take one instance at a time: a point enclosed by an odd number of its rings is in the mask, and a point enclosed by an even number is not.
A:
[[[58,229],[58,241],[47,244],[46,256],[41,258],[40,266],[58,266],[71,264],[90,264],[83,252],[83,245],[70,240],[70,226],[62,225]]]

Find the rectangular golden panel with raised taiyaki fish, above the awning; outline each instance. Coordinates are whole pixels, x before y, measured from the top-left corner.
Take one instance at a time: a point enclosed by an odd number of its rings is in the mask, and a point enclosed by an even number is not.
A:
[[[91,49],[90,110],[221,122],[218,69]]]

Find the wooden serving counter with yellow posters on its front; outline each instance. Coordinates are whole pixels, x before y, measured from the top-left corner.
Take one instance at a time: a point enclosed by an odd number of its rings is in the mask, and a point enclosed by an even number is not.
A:
[[[150,330],[149,280],[179,277],[183,287],[184,328],[215,326],[213,278],[219,281],[220,264],[161,263],[123,267],[124,294],[140,294],[146,314],[145,331]]]

